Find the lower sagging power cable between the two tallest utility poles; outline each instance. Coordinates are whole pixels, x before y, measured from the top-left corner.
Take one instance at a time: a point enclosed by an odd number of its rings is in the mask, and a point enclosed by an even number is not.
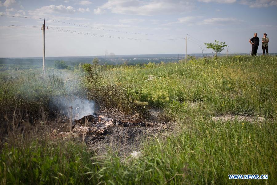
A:
[[[98,35],[98,34],[93,34],[93,33],[85,33],[85,32],[79,32],[79,31],[72,31],[72,30],[65,30],[62,28],[55,28],[55,27],[48,27],[51,30],[56,30],[56,31],[63,31],[63,32],[68,32],[68,33],[75,33],[75,34],[80,34],[80,35],[90,35],[90,36],[97,36],[97,37],[106,37],[106,38],[112,38],[112,39],[127,39],[127,40],[181,40],[183,38],[177,38],[177,39],[137,39],[137,38],[126,38],[126,37],[116,37],[116,36],[109,36],[109,35]]]

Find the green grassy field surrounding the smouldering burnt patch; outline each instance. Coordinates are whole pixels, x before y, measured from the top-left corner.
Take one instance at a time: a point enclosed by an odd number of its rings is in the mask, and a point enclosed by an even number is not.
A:
[[[88,73],[10,71],[0,75],[0,182],[68,184],[276,184],[277,57],[234,56],[179,63],[122,66]],[[79,81],[80,80],[80,81]],[[47,90],[45,90],[45,88]],[[69,93],[70,92],[70,93]],[[79,142],[52,141],[37,131],[20,134],[4,115],[15,106],[52,111],[49,101],[68,94],[125,113],[163,110],[176,121],[170,133],[143,141],[139,159],[116,152],[95,156]],[[37,111],[38,112],[38,111]],[[259,121],[214,121],[219,115],[251,115]],[[36,138],[36,139],[34,139]],[[268,180],[229,180],[228,174],[268,174]]]

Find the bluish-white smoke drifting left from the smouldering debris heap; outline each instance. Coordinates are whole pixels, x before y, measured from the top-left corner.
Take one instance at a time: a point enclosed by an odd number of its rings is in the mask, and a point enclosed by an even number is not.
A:
[[[44,107],[50,115],[58,113],[78,120],[95,114],[95,103],[86,98],[81,85],[83,73],[79,70],[46,68],[45,75],[41,68],[7,72],[9,74],[0,80],[9,82],[6,86],[11,87],[7,89],[16,89],[15,97],[25,102],[36,102],[34,106]]]

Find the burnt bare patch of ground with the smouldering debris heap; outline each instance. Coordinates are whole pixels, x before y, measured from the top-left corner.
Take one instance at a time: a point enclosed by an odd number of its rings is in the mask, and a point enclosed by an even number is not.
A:
[[[166,120],[159,109],[150,109],[143,118],[126,115],[116,109],[100,109],[94,115],[85,116],[78,121],[60,118],[50,125],[53,138],[66,138],[70,135],[83,140],[99,155],[110,149],[119,156],[128,156],[139,150],[145,139],[166,136],[173,129],[174,122]]]

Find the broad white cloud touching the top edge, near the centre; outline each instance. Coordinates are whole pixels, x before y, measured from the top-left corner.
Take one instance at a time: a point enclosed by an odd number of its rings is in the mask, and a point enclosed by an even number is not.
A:
[[[194,3],[187,0],[152,0],[150,2],[143,0],[109,0],[94,9],[94,13],[100,14],[103,10],[110,10],[116,14],[154,15],[188,12],[194,8]]]

